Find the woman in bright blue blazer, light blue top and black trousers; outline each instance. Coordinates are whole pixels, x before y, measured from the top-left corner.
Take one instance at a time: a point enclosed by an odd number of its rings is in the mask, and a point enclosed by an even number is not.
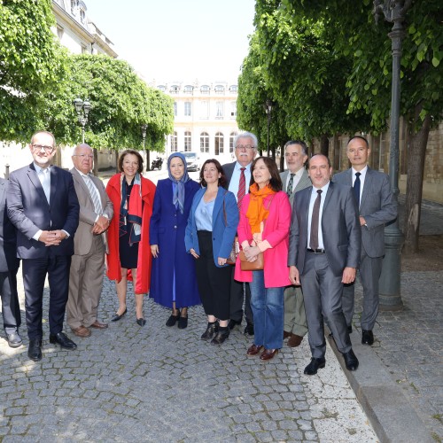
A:
[[[229,337],[229,299],[232,270],[226,264],[237,232],[238,208],[234,194],[224,190],[226,176],[216,159],[208,159],[186,227],[186,251],[196,261],[198,291],[207,315],[201,338],[221,345]],[[218,320],[218,324],[217,324]]]

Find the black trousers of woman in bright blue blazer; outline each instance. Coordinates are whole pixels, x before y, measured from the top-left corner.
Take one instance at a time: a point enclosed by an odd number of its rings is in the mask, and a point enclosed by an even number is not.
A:
[[[196,260],[198,292],[206,315],[219,320],[229,320],[230,266],[215,266],[213,233],[199,230],[200,257]]]

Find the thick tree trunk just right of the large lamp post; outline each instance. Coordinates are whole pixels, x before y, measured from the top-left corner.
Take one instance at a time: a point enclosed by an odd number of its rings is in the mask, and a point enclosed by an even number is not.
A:
[[[415,119],[410,126],[408,150],[408,181],[405,203],[405,253],[418,253],[418,235],[422,211],[424,158],[428,144],[431,116],[426,115],[422,127],[415,132],[421,106],[416,107]]]

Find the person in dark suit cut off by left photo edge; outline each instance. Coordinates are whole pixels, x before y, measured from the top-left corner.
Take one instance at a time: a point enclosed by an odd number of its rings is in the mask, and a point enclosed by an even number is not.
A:
[[[0,178],[0,296],[2,297],[3,326],[8,345],[19,347],[21,315],[19,294],[17,292],[17,235],[15,227],[8,218],[6,192],[8,181]]]

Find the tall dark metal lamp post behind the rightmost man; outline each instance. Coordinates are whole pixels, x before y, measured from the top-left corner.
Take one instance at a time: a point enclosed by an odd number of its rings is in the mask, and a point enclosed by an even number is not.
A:
[[[403,22],[412,0],[374,0],[376,22],[385,16],[393,23],[388,34],[392,48],[392,92],[391,92],[391,147],[389,152],[389,178],[395,201],[398,203],[399,190],[399,132],[400,132],[400,62],[401,42],[405,36]],[[403,307],[400,295],[400,253],[403,235],[399,219],[385,228],[385,258],[379,282],[380,307],[400,310]]]

